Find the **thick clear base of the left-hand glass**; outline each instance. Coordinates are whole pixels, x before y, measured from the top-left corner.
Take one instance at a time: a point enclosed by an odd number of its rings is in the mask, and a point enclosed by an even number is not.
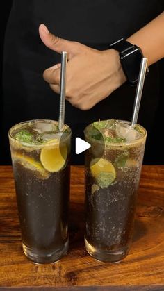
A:
[[[65,242],[64,245],[60,249],[56,249],[49,253],[49,251],[38,251],[37,249],[33,249],[31,247],[27,247],[24,243],[22,243],[23,251],[25,256],[32,260],[33,263],[38,264],[47,264],[47,263],[56,263],[60,258],[62,258],[68,250],[69,241]]]

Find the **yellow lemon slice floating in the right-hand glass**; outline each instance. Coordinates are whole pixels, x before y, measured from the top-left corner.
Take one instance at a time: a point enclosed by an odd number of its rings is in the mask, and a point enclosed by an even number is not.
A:
[[[95,158],[90,162],[90,171],[101,188],[106,188],[116,178],[115,167],[104,158]]]

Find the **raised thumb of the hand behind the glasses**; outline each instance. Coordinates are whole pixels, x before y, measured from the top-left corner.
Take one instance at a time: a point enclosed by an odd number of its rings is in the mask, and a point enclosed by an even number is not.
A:
[[[68,56],[71,57],[78,52],[78,43],[58,38],[58,36],[50,33],[44,24],[39,26],[39,34],[42,42],[57,53],[67,51]]]

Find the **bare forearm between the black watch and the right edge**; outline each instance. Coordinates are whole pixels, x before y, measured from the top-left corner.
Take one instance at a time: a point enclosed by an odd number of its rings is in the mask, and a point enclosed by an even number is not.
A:
[[[138,45],[148,58],[148,65],[164,57],[164,12],[127,40]]]

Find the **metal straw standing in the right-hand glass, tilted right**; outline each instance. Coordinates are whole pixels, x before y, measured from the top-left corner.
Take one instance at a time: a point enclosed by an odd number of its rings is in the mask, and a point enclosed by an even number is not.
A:
[[[147,58],[142,58],[140,63],[140,72],[138,76],[138,84],[136,88],[136,96],[133,105],[133,115],[131,119],[131,126],[134,126],[137,123],[138,113],[140,109],[140,100],[142,97],[142,90],[145,81],[145,74],[147,71]]]

